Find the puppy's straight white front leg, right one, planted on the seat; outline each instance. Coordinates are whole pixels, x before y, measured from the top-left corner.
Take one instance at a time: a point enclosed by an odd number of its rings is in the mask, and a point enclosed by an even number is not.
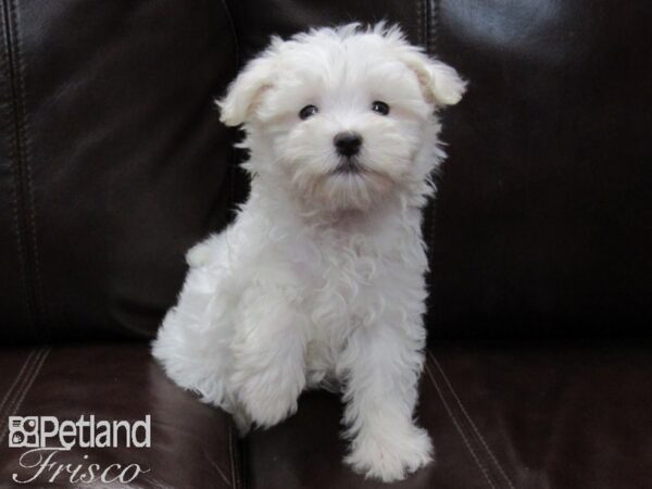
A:
[[[347,347],[346,462],[367,477],[399,480],[431,460],[428,434],[413,423],[423,344],[421,324],[376,324],[356,330]]]

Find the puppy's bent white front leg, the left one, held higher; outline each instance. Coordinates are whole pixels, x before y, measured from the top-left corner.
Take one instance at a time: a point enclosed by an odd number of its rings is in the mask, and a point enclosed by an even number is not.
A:
[[[290,290],[280,285],[249,288],[231,344],[231,387],[244,416],[262,427],[293,414],[305,386],[305,318],[292,304]]]

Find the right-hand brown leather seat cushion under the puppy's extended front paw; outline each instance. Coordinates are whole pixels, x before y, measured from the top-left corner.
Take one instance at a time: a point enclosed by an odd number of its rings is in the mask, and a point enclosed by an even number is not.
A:
[[[652,349],[610,343],[439,343],[419,423],[437,462],[401,488],[634,489],[652,471]],[[247,439],[260,489],[376,488],[341,463],[341,406],[303,396],[297,415]]]

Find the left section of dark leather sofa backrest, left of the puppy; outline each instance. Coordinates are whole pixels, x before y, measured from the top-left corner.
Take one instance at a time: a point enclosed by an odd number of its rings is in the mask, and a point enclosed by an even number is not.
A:
[[[3,2],[0,338],[151,335],[228,217],[220,1]]]

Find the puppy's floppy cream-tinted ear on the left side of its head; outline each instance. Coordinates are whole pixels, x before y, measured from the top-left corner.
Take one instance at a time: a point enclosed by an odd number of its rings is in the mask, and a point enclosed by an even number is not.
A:
[[[220,121],[225,125],[239,126],[251,117],[262,93],[274,83],[276,51],[280,42],[278,38],[273,39],[272,46],[247,64],[224,98],[217,101]]]

